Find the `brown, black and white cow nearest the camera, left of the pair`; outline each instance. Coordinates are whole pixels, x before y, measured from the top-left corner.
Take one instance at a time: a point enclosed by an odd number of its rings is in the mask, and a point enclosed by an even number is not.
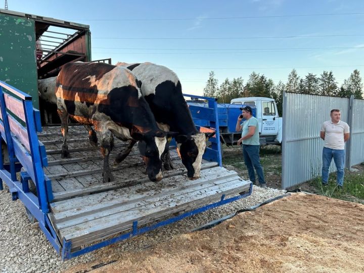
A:
[[[143,159],[148,177],[162,179],[161,155],[167,143],[166,132],[157,126],[153,113],[141,94],[133,73],[104,63],[65,64],[56,81],[58,114],[63,134],[62,158],[68,158],[68,116],[90,130],[94,126],[104,157],[103,182],[113,180],[109,154],[113,135],[127,141],[145,143]]]

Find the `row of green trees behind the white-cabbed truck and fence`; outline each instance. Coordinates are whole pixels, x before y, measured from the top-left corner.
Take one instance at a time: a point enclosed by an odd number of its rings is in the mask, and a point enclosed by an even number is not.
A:
[[[209,73],[209,78],[204,87],[204,96],[217,98],[219,103],[230,103],[232,99],[242,97],[267,97],[275,99],[278,111],[282,114],[283,92],[295,92],[314,95],[363,98],[363,83],[360,73],[355,69],[339,87],[332,71],[324,71],[320,76],[308,73],[305,77],[298,76],[296,69],[288,75],[287,83],[279,81],[277,84],[264,74],[252,72],[247,83],[242,77],[229,80],[226,78],[220,85],[214,71]]]

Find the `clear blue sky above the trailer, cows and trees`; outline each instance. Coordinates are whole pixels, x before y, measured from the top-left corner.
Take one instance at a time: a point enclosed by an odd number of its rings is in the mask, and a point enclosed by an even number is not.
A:
[[[219,83],[240,76],[246,83],[252,71],[285,82],[292,68],[301,77],[332,70],[339,84],[354,69],[364,74],[362,0],[8,0],[8,5],[9,10],[87,24],[94,60],[165,65],[190,94],[202,95],[211,70]],[[362,14],[289,16],[343,13]]]

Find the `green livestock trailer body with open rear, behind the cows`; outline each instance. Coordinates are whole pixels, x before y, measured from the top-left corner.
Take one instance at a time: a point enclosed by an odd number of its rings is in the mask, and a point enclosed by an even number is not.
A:
[[[91,61],[88,25],[0,9],[0,80],[30,95],[35,108],[37,80],[75,61]]]

